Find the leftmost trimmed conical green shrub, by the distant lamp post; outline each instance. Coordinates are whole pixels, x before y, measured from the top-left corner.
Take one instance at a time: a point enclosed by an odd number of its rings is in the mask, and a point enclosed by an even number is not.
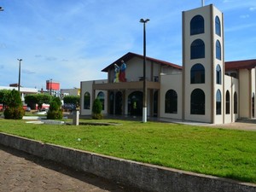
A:
[[[4,96],[4,101],[8,106],[3,114],[5,119],[22,119],[25,111],[22,108],[20,92],[18,90],[11,90]]]

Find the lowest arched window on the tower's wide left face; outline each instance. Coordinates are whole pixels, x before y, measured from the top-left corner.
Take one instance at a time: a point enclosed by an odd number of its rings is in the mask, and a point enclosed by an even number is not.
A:
[[[201,89],[195,89],[190,96],[190,113],[205,114],[205,93]]]

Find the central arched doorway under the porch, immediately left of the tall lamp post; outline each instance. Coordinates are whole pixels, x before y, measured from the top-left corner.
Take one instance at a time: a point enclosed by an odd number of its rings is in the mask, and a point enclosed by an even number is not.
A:
[[[134,91],[128,96],[128,113],[132,116],[143,115],[143,92]]]

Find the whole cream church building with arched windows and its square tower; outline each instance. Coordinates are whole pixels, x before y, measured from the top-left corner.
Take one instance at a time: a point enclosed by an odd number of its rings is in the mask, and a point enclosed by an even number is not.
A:
[[[256,60],[224,61],[223,24],[212,4],[183,12],[183,67],[146,58],[148,116],[212,124],[254,118]],[[80,113],[90,115],[98,97],[104,114],[142,116],[143,55],[129,52],[102,72],[108,79],[81,82]]]

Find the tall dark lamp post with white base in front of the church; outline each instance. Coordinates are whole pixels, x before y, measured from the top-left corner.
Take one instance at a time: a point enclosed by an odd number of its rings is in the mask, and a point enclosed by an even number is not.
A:
[[[141,19],[143,23],[143,123],[147,122],[147,87],[146,87],[146,23],[149,20]]]

